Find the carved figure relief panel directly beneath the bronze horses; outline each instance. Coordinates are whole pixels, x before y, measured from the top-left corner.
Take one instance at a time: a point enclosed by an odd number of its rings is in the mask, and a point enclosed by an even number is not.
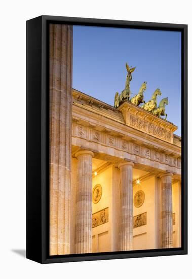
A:
[[[130,125],[134,128],[142,130],[146,133],[149,133],[153,136],[162,138],[165,141],[171,142],[171,132],[156,125],[151,122],[148,122],[140,117],[130,114]]]

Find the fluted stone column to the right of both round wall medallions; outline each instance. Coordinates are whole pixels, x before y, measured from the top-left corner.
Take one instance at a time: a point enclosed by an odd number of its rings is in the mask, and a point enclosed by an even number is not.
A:
[[[162,248],[173,247],[172,176],[172,173],[164,173],[160,176],[162,191]]]

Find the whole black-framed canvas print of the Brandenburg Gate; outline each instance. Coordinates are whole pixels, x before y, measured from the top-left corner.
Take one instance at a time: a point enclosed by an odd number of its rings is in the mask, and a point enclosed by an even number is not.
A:
[[[187,254],[187,25],[27,21],[26,254]]]

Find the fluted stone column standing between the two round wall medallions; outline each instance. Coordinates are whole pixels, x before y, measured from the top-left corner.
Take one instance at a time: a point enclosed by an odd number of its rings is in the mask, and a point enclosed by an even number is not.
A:
[[[118,165],[121,173],[121,251],[133,249],[133,166],[132,162],[123,162]]]

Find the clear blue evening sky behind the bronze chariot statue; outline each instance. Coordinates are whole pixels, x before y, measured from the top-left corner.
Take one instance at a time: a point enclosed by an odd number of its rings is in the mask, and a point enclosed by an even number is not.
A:
[[[113,106],[114,94],[125,88],[126,62],[136,66],[131,92],[146,81],[148,101],[159,87],[159,100],[169,100],[167,120],[181,135],[181,33],[73,26],[73,88]]]

